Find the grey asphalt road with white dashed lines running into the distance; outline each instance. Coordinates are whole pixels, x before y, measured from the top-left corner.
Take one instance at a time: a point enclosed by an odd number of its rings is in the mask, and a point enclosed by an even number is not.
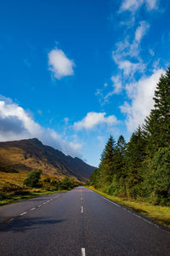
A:
[[[0,207],[0,255],[170,255],[170,231],[78,187]]]

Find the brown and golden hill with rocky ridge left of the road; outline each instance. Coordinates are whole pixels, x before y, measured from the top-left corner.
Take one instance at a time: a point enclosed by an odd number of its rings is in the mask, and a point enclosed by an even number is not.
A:
[[[0,143],[0,172],[30,172],[32,169],[86,181],[95,167],[45,146],[37,138]]]

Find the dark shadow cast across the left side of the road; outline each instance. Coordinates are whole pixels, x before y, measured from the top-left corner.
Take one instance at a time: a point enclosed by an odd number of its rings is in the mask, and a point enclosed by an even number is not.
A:
[[[26,230],[39,230],[44,225],[59,224],[65,219],[47,218],[14,218],[0,225],[0,232],[25,232]]]

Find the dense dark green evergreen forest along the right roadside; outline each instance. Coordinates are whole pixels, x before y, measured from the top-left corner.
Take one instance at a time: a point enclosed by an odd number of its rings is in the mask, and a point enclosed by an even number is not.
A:
[[[154,108],[128,143],[110,137],[90,184],[109,195],[170,205],[170,68],[156,86]]]

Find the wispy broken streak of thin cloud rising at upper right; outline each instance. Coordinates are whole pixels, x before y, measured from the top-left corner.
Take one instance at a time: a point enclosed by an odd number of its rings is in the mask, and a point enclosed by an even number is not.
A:
[[[108,102],[108,98],[114,94],[119,94],[123,89],[123,84],[129,79],[133,79],[135,73],[144,73],[146,65],[139,57],[140,43],[144,34],[149,29],[149,24],[146,21],[140,21],[139,26],[133,35],[133,40],[130,42],[129,36],[123,41],[116,44],[116,50],[112,51],[112,58],[119,68],[116,76],[112,76],[113,89],[103,95],[103,90],[97,90],[95,95],[99,96],[100,102]],[[106,86],[104,86],[105,88]]]

